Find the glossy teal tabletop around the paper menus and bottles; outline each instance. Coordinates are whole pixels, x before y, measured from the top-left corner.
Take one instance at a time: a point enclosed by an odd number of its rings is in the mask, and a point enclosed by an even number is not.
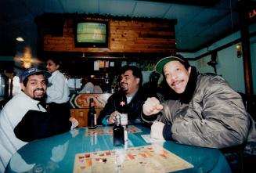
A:
[[[129,133],[129,146],[146,146],[142,134],[150,129],[136,126],[142,132]],[[11,158],[6,172],[73,172],[76,153],[88,153],[101,150],[114,150],[112,135],[87,136],[86,128],[76,128],[70,132],[38,139],[18,150]],[[193,164],[194,168],[176,172],[225,172],[229,173],[229,164],[217,149],[186,146],[173,141],[163,143],[166,150]]]

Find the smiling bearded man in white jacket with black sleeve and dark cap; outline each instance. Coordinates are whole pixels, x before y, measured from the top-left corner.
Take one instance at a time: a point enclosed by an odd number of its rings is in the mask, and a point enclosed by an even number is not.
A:
[[[0,172],[5,171],[13,153],[27,142],[67,132],[78,121],[59,123],[40,103],[45,99],[46,71],[31,68],[20,76],[22,92],[5,104],[0,114]]]

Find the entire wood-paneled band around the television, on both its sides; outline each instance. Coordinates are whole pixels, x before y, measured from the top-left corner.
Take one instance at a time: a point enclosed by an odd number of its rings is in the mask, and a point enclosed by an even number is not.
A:
[[[66,19],[62,36],[43,34],[43,51],[175,53],[175,22],[172,20],[159,23],[110,19],[108,48],[76,48],[73,28],[74,20]]]

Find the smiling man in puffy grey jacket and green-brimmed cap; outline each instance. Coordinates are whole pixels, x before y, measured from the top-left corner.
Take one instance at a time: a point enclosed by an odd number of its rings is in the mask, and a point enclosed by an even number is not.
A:
[[[156,71],[164,75],[175,99],[160,103],[148,98],[142,120],[153,123],[151,137],[178,143],[225,148],[250,141],[255,125],[241,96],[215,74],[198,74],[182,56],[161,59]],[[255,127],[255,126],[254,126]]]

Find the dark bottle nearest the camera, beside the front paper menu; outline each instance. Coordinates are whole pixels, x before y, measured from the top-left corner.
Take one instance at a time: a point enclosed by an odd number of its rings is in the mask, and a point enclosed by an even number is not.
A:
[[[124,127],[120,123],[120,115],[116,115],[116,121],[113,127],[114,146],[121,146],[124,144]]]

